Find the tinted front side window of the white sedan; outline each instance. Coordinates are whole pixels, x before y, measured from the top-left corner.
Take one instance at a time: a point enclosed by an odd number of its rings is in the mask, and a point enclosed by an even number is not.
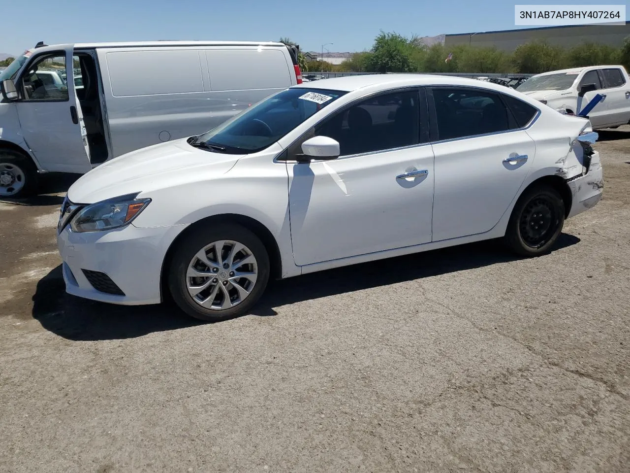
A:
[[[315,134],[336,139],[341,156],[418,144],[418,92],[369,98],[326,120]]]

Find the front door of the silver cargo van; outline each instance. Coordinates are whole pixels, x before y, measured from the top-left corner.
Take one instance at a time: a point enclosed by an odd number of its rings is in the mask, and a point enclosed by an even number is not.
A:
[[[71,45],[34,54],[16,83],[20,98],[15,104],[24,139],[43,169],[85,173],[92,166],[72,54]]]

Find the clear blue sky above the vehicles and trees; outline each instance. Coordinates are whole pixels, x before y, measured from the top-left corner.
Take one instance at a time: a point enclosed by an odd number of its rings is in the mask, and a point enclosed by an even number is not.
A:
[[[38,41],[276,41],[280,37],[294,40],[303,51],[319,51],[323,44],[333,43],[325,48],[355,52],[370,49],[380,30],[435,36],[514,29],[514,4],[505,0],[29,0],[25,8],[20,1],[6,1],[0,11],[0,52],[21,54]]]

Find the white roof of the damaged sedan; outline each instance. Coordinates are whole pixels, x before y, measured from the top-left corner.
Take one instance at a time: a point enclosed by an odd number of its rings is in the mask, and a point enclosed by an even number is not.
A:
[[[366,74],[360,76],[321,79],[316,83],[303,83],[295,85],[294,87],[352,92],[365,88],[387,90],[398,87],[423,85],[462,85],[505,91],[505,86],[493,84],[491,82],[483,82],[477,79],[457,76],[440,76],[437,74]]]

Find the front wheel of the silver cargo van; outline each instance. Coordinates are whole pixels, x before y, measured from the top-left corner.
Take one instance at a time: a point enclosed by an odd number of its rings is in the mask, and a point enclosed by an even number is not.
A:
[[[13,149],[0,149],[0,199],[29,196],[37,189],[37,180],[30,158]]]

